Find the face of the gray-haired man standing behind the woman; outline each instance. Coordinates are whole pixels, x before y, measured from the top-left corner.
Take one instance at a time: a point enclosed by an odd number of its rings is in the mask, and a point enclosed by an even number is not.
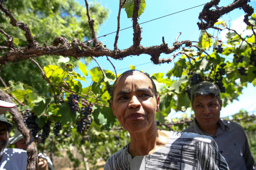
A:
[[[220,119],[222,101],[211,95],[196,96],[192,108],[196,115],[199,127],[204,131],[205,128],[215,128]]]

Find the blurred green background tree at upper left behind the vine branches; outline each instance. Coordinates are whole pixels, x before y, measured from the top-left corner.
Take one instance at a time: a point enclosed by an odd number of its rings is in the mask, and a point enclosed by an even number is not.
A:
[[[70,42],[74,38],[83,41],[91,37],[86,9],[75,0],[15,0],[15,2],[7,0],[4,1],[4,5],[12,11],[17,21],[22,21],[29,25],[32,36],[35,36],[35,40],[39,42],[40,46],[43,46],[44,42],[47,45],[51,45],[51,42],[57,36],[65,37]],[[95,32],[98,32],[100,25],[108,17],[108,10],[94,2],[90,4],[89,11],[91,18],[95,20]],[[6,17],[3,12],[0,14],[0,24],[7,34],[14,37],[15,45],[26,46],[27,40],[24,32],[19,28],[13,27],[10,24],[10,18]],[[5,36],[0,36],[0,46],[5,46],[4,39],[6,39]],[[2,55],[3,53],[0,53],[0,56]],[[34,60],[41,67],[44,67],[49,63],[58,65],[58,60],[62,58],[61,56],[42,56]],[[91,61],[88,57],[82,60],[86,61],[86,63]],[[78,61],[73,58],[70,58],[70,61],[74,61],[73,64],[75,66],[78,65]],[[16,62],[19,62],[19,60],[14,61],[14,63]],[[20,75],[26,75],[27,79]],[[39,68],[30,60],[23,61],[22,64],[3,67],[1,76],[6,83],[9,80],[22,81],[36,89],[45,89],[47,85],[47,82],[40,74]],[[44,94],[44,90],[37,93]]]

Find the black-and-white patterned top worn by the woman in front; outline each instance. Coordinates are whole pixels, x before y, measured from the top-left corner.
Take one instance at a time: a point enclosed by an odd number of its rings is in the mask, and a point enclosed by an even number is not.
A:
[[[108,158],[104,170],[228,170],[211,137],[171,132],[164,147],[146,156],[132,156],[126,145]]]

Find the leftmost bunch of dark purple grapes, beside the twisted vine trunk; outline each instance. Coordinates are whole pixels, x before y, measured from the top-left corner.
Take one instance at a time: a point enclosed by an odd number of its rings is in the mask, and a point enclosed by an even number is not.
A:
[[[23,121],[25,125],[28,127],[28,129],[31,130],[32,135],[34,138],[36,137],[36,134],[41,130],[36,123],[36,115],[34,113],[31,113],[28,109],[25,110],[25,114],[23,116]]]

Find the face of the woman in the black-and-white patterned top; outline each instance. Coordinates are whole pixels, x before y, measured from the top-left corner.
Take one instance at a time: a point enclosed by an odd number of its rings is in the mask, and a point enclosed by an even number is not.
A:
[[[123,75],[118,80],[111,107],[124,129],[139,133],[155,125],[159,96],[154,94],[150,79],[140,72]]]

